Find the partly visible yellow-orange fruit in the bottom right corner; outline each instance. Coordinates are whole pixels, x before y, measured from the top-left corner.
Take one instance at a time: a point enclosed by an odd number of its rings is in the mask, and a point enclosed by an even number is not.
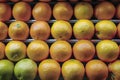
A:
[[[109,63],[108,68],[111,73],[111,80],[119,80],[120,79],[120,60],[116,60],[113,63]]]

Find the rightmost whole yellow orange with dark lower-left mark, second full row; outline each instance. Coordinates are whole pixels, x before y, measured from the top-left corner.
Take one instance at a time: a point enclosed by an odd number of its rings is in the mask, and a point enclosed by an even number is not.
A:
[[[112,39],[115,37],[117,28],[114,22],[110,20],[101,20],[95,25],[95,35],[99,39]]]

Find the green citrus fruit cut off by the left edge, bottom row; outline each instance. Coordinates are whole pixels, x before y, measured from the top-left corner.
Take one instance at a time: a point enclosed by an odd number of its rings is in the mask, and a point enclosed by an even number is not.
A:
[[[0,80],[12,80],[13,70],[13,62],[7,59],[0,60]]]

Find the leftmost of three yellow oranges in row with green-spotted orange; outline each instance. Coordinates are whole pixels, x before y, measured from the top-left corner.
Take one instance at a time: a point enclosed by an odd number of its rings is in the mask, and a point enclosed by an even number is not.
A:
[[[55,39],[69,40],[72,36],[71,24],[63,20],[56,21],[51,27],[51,34]]]

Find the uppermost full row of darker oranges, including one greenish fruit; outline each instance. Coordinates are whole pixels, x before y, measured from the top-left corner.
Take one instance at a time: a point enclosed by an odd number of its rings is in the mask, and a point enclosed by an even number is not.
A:
[[[49,21],[52,13],[56,20],[70,20],[73,16],[76,19],[91,19],[93,12],[97,19],[112,19],[114,15],[120,19],[120,4],[115,7],[111,2],[103,1],[95,6],[88,2],[79,2],[75,5],[74,10],[68,2],[58,2],[54,5],[53,10],[48,3],[38,2],[33,9],[29,3],[15,3],[13,9],[7,3],[0,3],[0,21],[8,21],[11,13],[16,20],[28,21],[31,14],[35,20]],[[32,12],[32,13],[31,13]]]

